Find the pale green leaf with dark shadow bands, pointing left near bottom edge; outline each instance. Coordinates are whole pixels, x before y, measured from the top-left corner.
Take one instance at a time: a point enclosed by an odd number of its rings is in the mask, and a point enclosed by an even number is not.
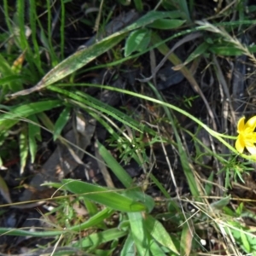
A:
[[[119,239],[127,234],[127,231],[119,230],[118,228],[104,230],[102,232],[97,232],[86,236],[85,238],[80,238],[79,241],[73,243],[73,247],[98,247],[108,241],[113,241],[114,239]]]

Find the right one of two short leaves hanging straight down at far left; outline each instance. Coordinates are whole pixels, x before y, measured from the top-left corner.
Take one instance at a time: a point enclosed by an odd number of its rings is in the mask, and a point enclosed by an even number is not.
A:
[[[31,120],[31,122],[28,123],[28,144],[29,144],[29,152],[31,155],[31,161],[34,162],[36,158],[36,154],[38,151],[38,143],[41,141],[41,134],[40,134],[40,126],[38,123],[38,118],[36,115],[32,114],[28,117],[28,119]]]

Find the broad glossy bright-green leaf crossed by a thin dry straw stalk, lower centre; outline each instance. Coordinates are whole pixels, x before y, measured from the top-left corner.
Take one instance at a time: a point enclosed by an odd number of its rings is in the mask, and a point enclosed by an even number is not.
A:
[[[81,181],[64,179],[62,180],[64,188],[74,194],[83,194],[83,196],[92,201],[101,203],[104,206],[113,208],[121,212],[141,212],[145,211],[146,207],[142,203],[133,201],[131,198],[120,195],[113,189],[103,188],[90,183]]]

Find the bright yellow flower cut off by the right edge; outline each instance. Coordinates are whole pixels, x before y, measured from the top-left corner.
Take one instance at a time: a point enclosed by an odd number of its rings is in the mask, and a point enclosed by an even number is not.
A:
[[[248,119],[244,123],[245,117],[239,119],[237,124],[238,137],[236,139],[236,150],[239,153],[242,153],[244,148],[247,148],[250,154],[256,155],[256,116],[253,116],[251,119]]]

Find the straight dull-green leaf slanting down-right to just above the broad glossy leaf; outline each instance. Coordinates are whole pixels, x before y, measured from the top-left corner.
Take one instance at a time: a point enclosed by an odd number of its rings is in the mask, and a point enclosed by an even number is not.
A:
[[[119,181],[123,183],[125,188],[130,188],[132,184],[131,176],[125,172],[125,169],[119,165],[117,160],[114,159],[113,155],[109,153],[101,143],[97,142],[99,153],[102,155],[103,160],[107,163],[111,171],[118,177]]]

